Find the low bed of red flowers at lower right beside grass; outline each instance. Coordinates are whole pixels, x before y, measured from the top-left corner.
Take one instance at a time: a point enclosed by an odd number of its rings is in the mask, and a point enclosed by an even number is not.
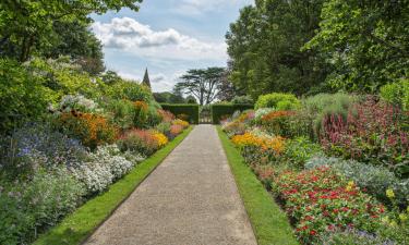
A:
[[[296,234],[304,244],[336,228],[373,232],[384,216],[382,205],[328,168],[285,171],[273,181],[273,189],[285,200],[287,213],[297,222]]]

